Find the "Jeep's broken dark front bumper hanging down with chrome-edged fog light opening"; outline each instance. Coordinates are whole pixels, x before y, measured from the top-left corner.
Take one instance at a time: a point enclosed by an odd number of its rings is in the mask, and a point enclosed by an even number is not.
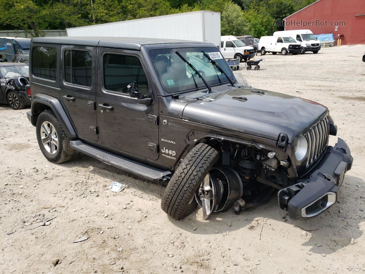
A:
[[[278,192],[279,206],[289,218],[310,218],[324,212],[340,197],[345,173],[351,169],[353,157],[346,142],[328,146],[326,154],[308,179],[298,180]]]

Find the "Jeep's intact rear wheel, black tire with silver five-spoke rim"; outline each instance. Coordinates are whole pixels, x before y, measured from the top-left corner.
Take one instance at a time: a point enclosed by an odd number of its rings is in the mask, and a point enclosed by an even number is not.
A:
[[[78,154],[70,147],[70,139],[53,111],[45,110],[39,114],[36,130],[39,148],[50,162],[63,163]]]

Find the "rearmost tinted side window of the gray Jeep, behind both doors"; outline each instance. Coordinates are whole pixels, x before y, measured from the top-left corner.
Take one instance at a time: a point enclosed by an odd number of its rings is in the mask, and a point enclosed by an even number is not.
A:
[[[32,73],[34,76],[56,80],[57,49],[55,47],[34,47]]]

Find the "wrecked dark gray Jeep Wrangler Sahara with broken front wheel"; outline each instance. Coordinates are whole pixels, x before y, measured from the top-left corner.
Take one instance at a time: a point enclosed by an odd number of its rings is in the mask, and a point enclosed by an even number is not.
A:
[[[175,219],[237,213],[277,195],[290,218],[333,205],[353,158],[328,109],[250,87],[210,43],[33,38],[31,111],[53,163],[78,152],[165,182]]]

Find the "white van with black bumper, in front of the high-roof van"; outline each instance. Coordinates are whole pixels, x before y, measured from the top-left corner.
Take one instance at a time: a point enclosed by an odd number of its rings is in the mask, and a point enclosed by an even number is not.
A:
[[[300,53],[300,43],[290,36],[262,36],[258,42],[258,50],[261,55],[265,55],[266,52],[296,55]]]

